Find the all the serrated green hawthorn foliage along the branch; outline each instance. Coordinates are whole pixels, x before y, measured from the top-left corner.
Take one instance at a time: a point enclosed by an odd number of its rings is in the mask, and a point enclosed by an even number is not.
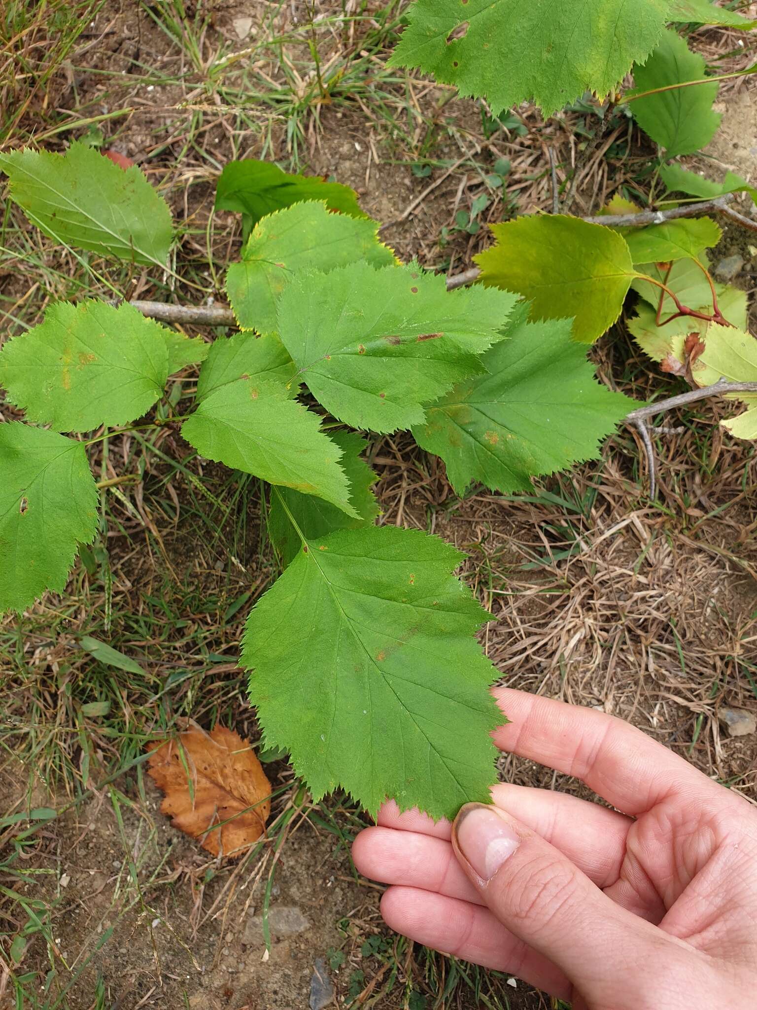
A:
[[[518,31],[505,30],[512,17]],[[547,113],[586,89],[613,92],[635,64],[632,110],[659,144],[671,199],[757,196],[733,174],[710,183],[671,162],[717,128],[716,85],[656,90],[705,74],[666,27],[696,19],[748,26],[705,0],[417,0],[393,59],[495,111],[534,97]],[[78,142],[0,155],[0,168],[57,242],[167,268],[171,213],[137,168]],[[188,451],[265,485],[283,573],[241,650],[265,743],[291,753],[316,798],[342,788],[371,812],[391,796],[452,816],[494,780],[497,671],[475,640],[489,615],[455,577],[456,549],[382,524],[366,438],[411,430],[458,494],[528,491],[536,475],[597,458],[635,404],[597,381],[586,345],[631,289],[630,327],[650,358],[698,385],[757,377],[746,297],[708,270],[720,228],[707,217],[627,228],[521,217],[494,226],[481,283],[450,292],[399,262],[348,187],[245,160],[224,169],[216,206],[242,215],[226,273],[237,331],[206,342],[128,303],[86,299],[53,303],[0,352],[0,386],[25,414],[0,424],[0,611],[63,591],[78,545],[95,538],[88,447],[137,422],[172,423]],[[616,198],[606,212],[640,209]],[[170,398],[190,366],[192,401]],[[744,399],[725,423],[757,437],[757,397]]]

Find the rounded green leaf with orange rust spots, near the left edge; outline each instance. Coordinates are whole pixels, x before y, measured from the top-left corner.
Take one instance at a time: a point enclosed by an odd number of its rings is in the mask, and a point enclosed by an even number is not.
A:
[[[165,333],[126,302],[56,302],[44,322],[5,344],[0,385],[30,420],[57,431],[126,424],[166,386]]]

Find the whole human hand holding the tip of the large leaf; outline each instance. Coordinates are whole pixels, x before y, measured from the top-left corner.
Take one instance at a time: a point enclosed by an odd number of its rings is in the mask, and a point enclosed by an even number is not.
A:
[[[617,810],[499,785],[454,824],[386,804],[352,855],[391,928],[574,1010],[711,1010],[757,993],[757,810],[628,723],[501,688],[503,750]],[[623,811],[619,813],[617,811]]]

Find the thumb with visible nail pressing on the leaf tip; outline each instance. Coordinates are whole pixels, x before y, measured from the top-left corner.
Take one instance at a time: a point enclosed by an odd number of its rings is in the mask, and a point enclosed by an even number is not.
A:
[[[559,849],[499,807],[466,804],[452,844],[497,918],[561,968],[592,1004],[631,995],[624,979],[631,983],[638,974],[637,957],[652,955],[652,947],[664,952],[663,933],[616,905]]]

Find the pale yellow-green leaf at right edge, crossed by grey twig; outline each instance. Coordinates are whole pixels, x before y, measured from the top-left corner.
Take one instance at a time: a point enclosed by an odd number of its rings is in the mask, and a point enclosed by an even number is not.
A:
[[[712,386],[720,379],[729,382],[757,382],[757,339],[733,326],[710,323],[705,349],[691,366],[697,386]],[[747,410],[738,417],[727,417],[721,427],[737,438],[757,438],[757,393],[732,393],[729,400],[739,400]]]

